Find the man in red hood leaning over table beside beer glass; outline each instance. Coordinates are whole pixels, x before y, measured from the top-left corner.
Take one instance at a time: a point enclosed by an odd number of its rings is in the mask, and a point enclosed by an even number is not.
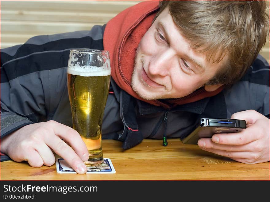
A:
[[[90,32],[1,50],[1,160],[50,166],[54,151],[86,172],[66,73],[69,50],[91,48],[110,51],[103,138],[123,141],[124,149],[143,138],[166,146],[200,117],[231,117],[247,128],[202,138],[199,147],[247,164],[269,161],[269,65],[258,55],[268,35],[264,10],[263,1],[142,2]]]

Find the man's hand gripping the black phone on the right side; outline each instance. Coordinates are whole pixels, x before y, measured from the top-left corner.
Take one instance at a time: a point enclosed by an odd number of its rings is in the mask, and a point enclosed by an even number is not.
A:
[[[231,119],[246,121],[246,129],[238,133],[216,133],[201,138],[201,149],[233,160],[256,164],[269,161],[269,119],[254,110],[234,113]]]

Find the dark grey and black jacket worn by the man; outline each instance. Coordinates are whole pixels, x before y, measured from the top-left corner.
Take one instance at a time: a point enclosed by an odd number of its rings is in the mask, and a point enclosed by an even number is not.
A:
[[[72,127],[67,94],[69,51],[103,49],[104,28],[37,36],[24,45],[1,50],[1,137],[48,120]],[[200,117],[230,118],[233,113],[254,109],[269,118],[269,65],[260,55],[230,88],[169,111],[134,99],[112,79],[110,91],[114,93],[108,96],[102,138],[124,141],[125,149],[143,138],[183,138]],[[1,156],[1,161],[7,159]]]

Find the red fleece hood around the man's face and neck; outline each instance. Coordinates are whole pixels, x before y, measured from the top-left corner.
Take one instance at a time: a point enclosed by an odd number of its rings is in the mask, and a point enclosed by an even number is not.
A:
[[[141,38],[152,25],[158,10],[159,1],[146,1],[129,7],[112,18],[106,25],[103,46],[110,52],[111,76],[117,85],[131,96],[152,105],[171,108],[189,102],[214,96],[222,91],[223,86],[213,92],[204,88],[198,89],[190,95],[165,102],[145,100],[137,95],[131,87],[131,76],[134,59]]]

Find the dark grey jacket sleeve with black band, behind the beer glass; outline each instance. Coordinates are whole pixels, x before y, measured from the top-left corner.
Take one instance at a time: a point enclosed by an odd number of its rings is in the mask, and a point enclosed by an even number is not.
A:
[[[67,90],[70,50],[102,50],[104,28],[36,36],[1,50],[1,138],[25,125],[53,119]]]

